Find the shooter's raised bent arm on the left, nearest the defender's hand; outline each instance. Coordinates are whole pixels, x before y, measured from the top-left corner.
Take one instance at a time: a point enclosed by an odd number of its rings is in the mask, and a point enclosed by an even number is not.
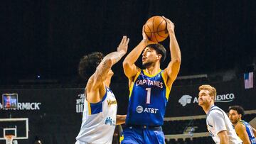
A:
[[[129,78],[129,80],[132,81],[138,71],[135,62],[142,54],[144,48],[146,48],[146,45],[153,43],[146,37],[146,34],[144,33],[144,26],[142,28],[142,36],[143,40],[131,52],[129,52],[129,54],[127,55],[127,57],[125,57],[123,62],[124,74]]]

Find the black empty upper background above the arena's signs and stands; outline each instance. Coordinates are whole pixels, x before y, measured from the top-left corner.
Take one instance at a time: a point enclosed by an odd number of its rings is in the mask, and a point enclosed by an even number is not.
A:
[[[70,79],[78,79],[82,55],[112,52],[122,35],[131,39],[129,52],[142,40],[143,24],[156,15],[175,24],[182,55],[179,75],[242,73],[255,63],[255,7],[253,0],[1,1],[1,84],[37,75],[77,82]],[[169,40],[163,44],[169,52]],[[124,77],[121,66],[114,72]]]

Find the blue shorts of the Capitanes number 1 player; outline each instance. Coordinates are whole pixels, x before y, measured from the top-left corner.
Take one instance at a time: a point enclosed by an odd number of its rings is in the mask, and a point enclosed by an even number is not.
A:
[[[164,144],[164,133],[161,126],[127,126],[123,131],[121,144]]]

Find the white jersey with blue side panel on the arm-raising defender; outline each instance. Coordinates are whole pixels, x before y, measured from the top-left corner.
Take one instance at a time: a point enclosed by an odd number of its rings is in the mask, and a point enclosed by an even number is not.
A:
[[[82,113],[82,126],[76,144],[111,144],[117,117],[117,100],[106,88],[102,101],[91,104],[86,101]]]

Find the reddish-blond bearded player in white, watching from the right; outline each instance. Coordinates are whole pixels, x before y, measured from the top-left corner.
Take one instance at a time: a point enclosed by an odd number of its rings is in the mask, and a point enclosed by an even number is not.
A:
[[[210,85],[199,87],[198,105],[206,112],[206,126],[215,143],[237,144],[242,143],[235,133],[227,114],[214,105],[216,89]]]

